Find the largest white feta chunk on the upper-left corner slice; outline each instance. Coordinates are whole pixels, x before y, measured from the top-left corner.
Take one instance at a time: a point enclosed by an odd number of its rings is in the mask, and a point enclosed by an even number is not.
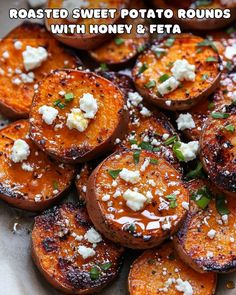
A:
[[[23,62],[26,71],[36,69],[48,58],[48,52],[43,47],[26,46],[23,51]]]

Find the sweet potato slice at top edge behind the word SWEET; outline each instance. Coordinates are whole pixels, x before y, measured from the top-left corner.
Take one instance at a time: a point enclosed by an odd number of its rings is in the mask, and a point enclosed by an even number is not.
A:
[[[122,8],[127,7],[129,0],[107,0],[105,3],[100,0],[89,0],[86,1],[87,4],[84,5],[84,7],[81,6],[81,4],[78,4],[78,7],[75,8],[84,8],[84,9],[99,9],[99,8],[106,8],[106,9],[116,9],[116,16],[115,18],[85,18],[85,19],[78,19],[78,21],[70,22],[66,19],[47,19],[46,20],[46,27],[49,31],[51,31],[51,25],[69,25],[70,23],[78,24],[78,25],[84,25],[86,28],[86,32],[89,31],[89,25],[109,25],[117,23],[120,19],[119,11]],[[85,3],[85,2],[84,2]],[[48,7],[55,9],[55,8],[62,8],[63,0],[49,0],[48,1]],[[104,5],[105,4],[105,5]],[[104,41],[106,41],[110,36],[109,34],[57,34],[54,35],[56,38],[58,38],[61,42],[78,48],[78,49],[84,49],[84,50],[90,50],[98,47],[101,45]]]

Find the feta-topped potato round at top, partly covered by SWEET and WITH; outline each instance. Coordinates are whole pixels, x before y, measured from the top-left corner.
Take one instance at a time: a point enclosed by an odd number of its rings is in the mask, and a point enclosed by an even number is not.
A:
[[[51,25],[67,25],[68,33],[65,34],[54,34],[54,36],[59,39],[61,42],[84,50],[90,50],[98,47],[104,41],[106,41],[110,36],[109,34],[96,34],[96,33],[88,33],[90,32],[90,25],[112,25],[120,20],[120,10],[127,7],[129,0],[84,0],[84,1],[64,1],[64,0],[49,0],[48,1],[48,8],[57,9],[63,8],[69,11],[69,17],[67,19],[55,19],[55,18],[47,18],[46,19],[46,26],[50,32],[52,32]],[[83,9],[83,10],[91,10],[91,11],[99,11],[104,10],[105,15],[102,17],[99,16],[99,12],[94,12],[94,16],[86,17],[82,16],[78,19],[72,18],[72,12],[74,9]],[[112,14],[106,12],[109,9],[115,9],[116,13],[113,17]],[[87,14],[86,14],[87,15]],[[91,14],[90,14],[91,15]],[[85,27],[85,33],[75,33],[73,30],[70,29],[70,25],[79,25]]]

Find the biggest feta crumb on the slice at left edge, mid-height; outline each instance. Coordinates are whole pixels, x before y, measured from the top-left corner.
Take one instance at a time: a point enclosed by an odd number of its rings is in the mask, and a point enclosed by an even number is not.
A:
[[[10,156],[14,163],[19,163],[26,160],[30,155],[30,147],[22,139],[17,139],[12,147],[12,154]]]

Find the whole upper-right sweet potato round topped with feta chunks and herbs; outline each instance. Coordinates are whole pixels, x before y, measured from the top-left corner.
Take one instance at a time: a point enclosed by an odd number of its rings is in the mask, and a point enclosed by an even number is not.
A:
[[[178,68],[176,62],[183,60],[195,66],[193,73],[196,76],[191,77],[192,80],[186,80],[190,79],[189,74],[181,78],[177,73],[173,77],[172,71]],[[203,75],[208,79],[202,79]],[[170,36],[139,56],[133,78],[136,88],[148,101],[165,109],[186,110],[217,88],[220,58],[217,49],[206,46],[206,40],[201,37],[190,34]],[[170,84],[169,79],[175,80],[174,83]]]

